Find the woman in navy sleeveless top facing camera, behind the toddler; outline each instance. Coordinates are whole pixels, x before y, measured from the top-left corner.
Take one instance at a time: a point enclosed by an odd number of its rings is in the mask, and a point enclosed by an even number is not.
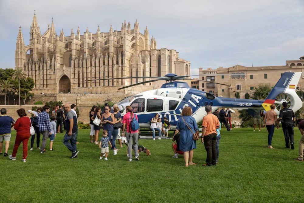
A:
[[[102,114],[101,122],[102,122],[103,129],[108,131],[108,137],[109,137],[109,140],[111,141],[111,144],[113,142],[116,142],[117,134],[116,134],[115,139],[114,139],[114,135],[113,135],[115,118],[114,118],[114,115],[110,112],[109,106],[105,106],[105,113]],[[113,138],[111,139],[112,135],[113,135]],[[113,148],[113,144],[112,144],[112,149],[114,150],[113,151],[114,155],[116,155],[117,149]]]

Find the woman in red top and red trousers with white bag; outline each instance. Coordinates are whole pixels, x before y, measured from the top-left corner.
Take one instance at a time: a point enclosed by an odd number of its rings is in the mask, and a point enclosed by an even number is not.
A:
[[[16,123],[14,124],[14,129],[17,131],[16,140],[12,155],[9,155],[9,159],[16,160],[16,153],[18,150],[19,145],[23,144],[23,157],[22,161],[26,162],[27,157],[27,143],[29,142],[30,132],[30,118],[26,116],[24,109],[18,109],[17,114],[20,118],[17,119]]]

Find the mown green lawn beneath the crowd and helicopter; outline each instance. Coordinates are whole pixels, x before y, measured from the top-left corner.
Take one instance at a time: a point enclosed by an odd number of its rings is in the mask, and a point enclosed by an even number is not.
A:
[[[295,128],[295,150],[285,149],[282,128],[275,130],[268,149],[267,132],[252,128],[221,131],[217,166],[203,167],[206,151],[197,142],[193,161],[172,159],[171,139],[141,139],[152,155],[127,161],[126,146],[109,160],[99,161],[99,148],[89,143],[89,130],[79,131],[78,158],[62,144],[57,134],[55,151],[29,151],[26,163],[19,147],[17,160],[0,156],[2,202],[303,202],[304,163],[298,155],[299,130]],[[11,139],[9,154],[15,141]],[[49,144],[49,140],[48,140]]]

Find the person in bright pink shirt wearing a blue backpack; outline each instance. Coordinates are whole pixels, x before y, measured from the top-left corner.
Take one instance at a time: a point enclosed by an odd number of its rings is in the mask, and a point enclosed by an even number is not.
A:
[[[127,138],[129,161],[132,161],[132,145],[134,146],[135,160],[139,160],[138,156],[138,134],[139,124],[137,115],[133,113],[131,106],[126,106],[126,115],[123,116],[123,131],[122,135]],[[126,128],[127,127],[127,128]],[[127,133],[125,134],[125,129]],[[133,144],[132,144],[133,141]]]

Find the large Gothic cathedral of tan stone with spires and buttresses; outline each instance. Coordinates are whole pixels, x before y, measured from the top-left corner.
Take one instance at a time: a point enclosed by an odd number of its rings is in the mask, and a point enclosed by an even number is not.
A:
[[[80,28],[71,35],[59,36],[54,22],[43,34],[36,13],[30,27],[29,45],[25,45],[21,27],[16,43],[15,68],[22,68],[35,81],[34,93],[102,93],[105,87],[116,89],[148,79],[126,79],[134,76],[164,76],[167,73],[190,75],[190,62],[180,59],[173,49],[157,49],[149,30],[140,33],[136,20],[122,23],[121,30],[96,33]],[[107,79],[95,80],[94,79]],[[133,91],[153,89],[164,81],[133,87]]]

